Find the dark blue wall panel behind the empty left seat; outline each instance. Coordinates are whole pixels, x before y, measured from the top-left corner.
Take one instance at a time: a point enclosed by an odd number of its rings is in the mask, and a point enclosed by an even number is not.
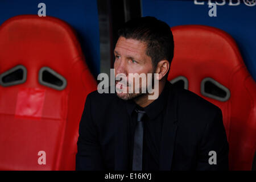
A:
[[[0,0],[0,24],[15,15],[38,14],[41,2],[46,4],[46,15],[60,18],[75,28],[88,67],[94,76],[98,75],[100,34],[96,0]]]

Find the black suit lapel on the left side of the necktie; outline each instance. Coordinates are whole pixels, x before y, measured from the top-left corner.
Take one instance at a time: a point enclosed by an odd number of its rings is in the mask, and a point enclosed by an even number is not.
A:
[[[118,112],[115,115],[115,171],[128,170],[128,122],[129,116],[126,107],[118,99]]]

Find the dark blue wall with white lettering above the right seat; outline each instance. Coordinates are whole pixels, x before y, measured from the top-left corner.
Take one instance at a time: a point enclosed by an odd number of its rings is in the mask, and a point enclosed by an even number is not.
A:
[[[246,6],[242,0],[238,6],[228,6],[228,3],[226,0],[224,6],[217,6],[217,17],[210,17],[207,1],[204,5],[195,5],[192,0],[142,0],[142,15],[155,16],[170,27],[204,24],[228,32],[236,40],[247,69],[256,80],[256,6]]]

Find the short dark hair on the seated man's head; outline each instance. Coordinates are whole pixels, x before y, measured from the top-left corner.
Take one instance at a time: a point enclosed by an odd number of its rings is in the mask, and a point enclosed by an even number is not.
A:
[[[160,60],[168,60],[171,65],[174,37],[167,23],[152,16],[131,19],[119,29],[118,36],[146,43],[146,54],[151,57],[154,68]]]

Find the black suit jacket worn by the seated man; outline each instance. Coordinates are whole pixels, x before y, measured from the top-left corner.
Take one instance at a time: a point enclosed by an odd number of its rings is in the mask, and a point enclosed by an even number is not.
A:
[[[228,169],[229,146],[221,110],[189,90],[166,84],[169,94],[159,169]],[[97,90],[87,96],[77,142],[77,170],[127,170],[130,118],[125,102]],[[209,164],[210,151],[216,152],[217,164]]]

